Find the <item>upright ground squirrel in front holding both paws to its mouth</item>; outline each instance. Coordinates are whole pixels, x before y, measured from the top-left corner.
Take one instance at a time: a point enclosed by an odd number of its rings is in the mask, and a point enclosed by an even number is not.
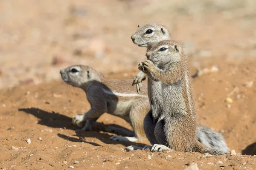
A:
[[[159,142],[151,147],[151,152],[171,148],[174,151],[212,155],[228,153],[209,148],[197,140],[198,115],[188,59],[182,45],[174,40],[164,40],[153,45],[146,57],[139,69],[150,79],[162,83],[163,97],[163,110],[157,123],[144,121],[144,125],[154,126],[154,135]]]

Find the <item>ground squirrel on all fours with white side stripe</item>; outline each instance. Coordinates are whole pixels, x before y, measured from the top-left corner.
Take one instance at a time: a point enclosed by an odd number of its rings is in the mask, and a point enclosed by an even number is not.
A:
[[[73,65],[61,70],[60,74],[64,82],[84,90],[91,106],[89,111],[73,118],[74,125],[81,126],[81,123],[86,122],[81,130],[91,130],[93,122],[103,113],[110,113],[129,122],[135,133],[135,137],[111,136],[110,139],[131,142],[146,139],[143,119],[149,111],[147,91],[136,94],[135,88],[131,86],[132,79],[106,80],[87,65]],[[132,135],[128,130],[116,127],[108,127],[105,131]]]

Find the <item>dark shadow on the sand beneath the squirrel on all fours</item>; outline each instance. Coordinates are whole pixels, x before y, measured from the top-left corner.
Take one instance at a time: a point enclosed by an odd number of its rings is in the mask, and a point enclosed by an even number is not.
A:
[[[19,108],[19,111],[23,111],[25,113],[32,114],[35,117],[39,118],[40,121],[38,121],[38,124],[40,124],[40,125],[45,125],[45,126],[53,127],[53,128],[65,128],[65,129],[70,129],[70,130],[79,129],[78,126],[71,124],[72,118],[65,116],[63,114],[55,113],[54,111],[52,111],[52,113],[50,113],[50,112],[44,111],[39,108]],[[93,125],[93,131],[76,132],[76,135],[74,135],[74,137],[67,136],[67,135],[64,135],[61,133],[58,133],[57,135],[59,137],[61,137],[62,139],[68,140],[70,142],[85,142],[85,143],[92,144],[94,146],[100,146],[100,145],[96,144],[94,142],[87,142],[87,140],[85,138],[86,137],[97,138],[105,144],[122,144],[125,147],[130,146],[130,145],[137,145],[140,147],[145,146],[145,144],[142,144],[142,143],[135,143],[135,142],[129,142],[129,141],[125,141],[125,142],[113,141],[113,140],[109,139],[111,137],[111,135],[109,135],[107,133],[100,133],[100,131],[103,131],[108,126],[113,126],[113,127],[118,127],[118,128],[128,130],[125,127],[121,127],[119,125],[114,125],[114,124],[104,125],[103,123],[95,122]],[[120,134],[120,135],[122,135],[122,134]],[[76,137],[79,137],[79,139]]]

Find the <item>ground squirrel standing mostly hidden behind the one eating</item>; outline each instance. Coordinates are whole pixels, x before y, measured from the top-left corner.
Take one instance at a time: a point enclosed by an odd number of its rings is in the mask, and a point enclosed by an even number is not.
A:
[[[134,44],[140,47],[147,47],[147,51],[151,49],[152,45],[156,44],[161,40],[169,40],[171,38],[168,28],[158,23],[146,23],[142,26],[138,26],[136,32],[131,36]],[[136,84],[137,92],[141,91],[141,83],[145,80],[145,74],[140,71],[134,78],[133,85]],[[159,114],[162,112],[162,94],[161,94],[161,82],[156,82],[148,79],[148,98],[151,104],[151,110],[145,117],[145,122],[157,122]],[[144,124],[145,133],[150,143],[157,144],[157,139],[154,137],[154,126]],[[200,125],[198,126],[198,141],[207,145],[208,147],[228,151],[229,148],[221,135],[216,133],[209,127]],[[146,147],[145,147],[146,148]],[[140,147],[129,146],[127,150],[143,149]]]

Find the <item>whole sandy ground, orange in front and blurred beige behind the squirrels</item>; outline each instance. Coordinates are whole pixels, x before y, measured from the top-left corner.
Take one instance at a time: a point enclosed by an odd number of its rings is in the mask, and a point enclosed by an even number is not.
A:
[[[255,20],[254,0],[0,1],[0,168],[180,170],[195,162],[201,170],[256,169]],[[145,49],[130,37],[147,22],[163,23],[184,44],[191,75],[218,68],[193,79],[199,122],[242,154],[126,152],[149,142],[109,140],[105,127],[132,128],[107,113],[95,131],[74,131],[72,117],[90,105],[59,70],[79,63],[108,79],[133,78]]]

